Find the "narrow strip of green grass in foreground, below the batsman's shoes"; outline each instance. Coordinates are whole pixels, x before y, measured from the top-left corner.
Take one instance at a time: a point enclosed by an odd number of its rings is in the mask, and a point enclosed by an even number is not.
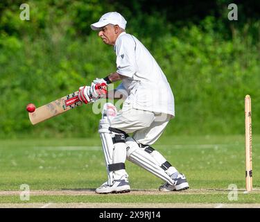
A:
[[[31,196],[22,201],[19,196],[2,196],[0,203],[260,203],[260,195],[239,194],[237,200],[230,201],[227,194],[189,195],[87,195],[87,196]]]

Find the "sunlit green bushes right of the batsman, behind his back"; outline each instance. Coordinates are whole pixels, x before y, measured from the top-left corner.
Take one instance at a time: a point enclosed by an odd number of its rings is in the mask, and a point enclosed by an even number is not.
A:
[[[244,97],[252,96],[253,130],[259,133],[259,45],[237,33],[223,40],[198,26],[167,35],[155,57],[175,94],[169,133],[244,133]]]

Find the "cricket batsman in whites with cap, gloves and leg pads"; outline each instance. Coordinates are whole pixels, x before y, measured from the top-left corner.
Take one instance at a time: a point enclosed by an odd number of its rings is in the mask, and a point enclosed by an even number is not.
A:
[[[121,84],[115,94],[126,95],[119,112],[111,103],[103,107],[98,133],[103,144],[107,181],[96,193],[130,191],[126,159],[164,180],[159,191],[188,189],[184,174],[151,146],[175,116],[173,92],[148,49],[135,36],[125,33],[126,23],[118,12],[107,12],[91,25],[105,44],[114,46],[116,71],[79,89],[83,103],[105,98],[107,85],[116,81]]]

